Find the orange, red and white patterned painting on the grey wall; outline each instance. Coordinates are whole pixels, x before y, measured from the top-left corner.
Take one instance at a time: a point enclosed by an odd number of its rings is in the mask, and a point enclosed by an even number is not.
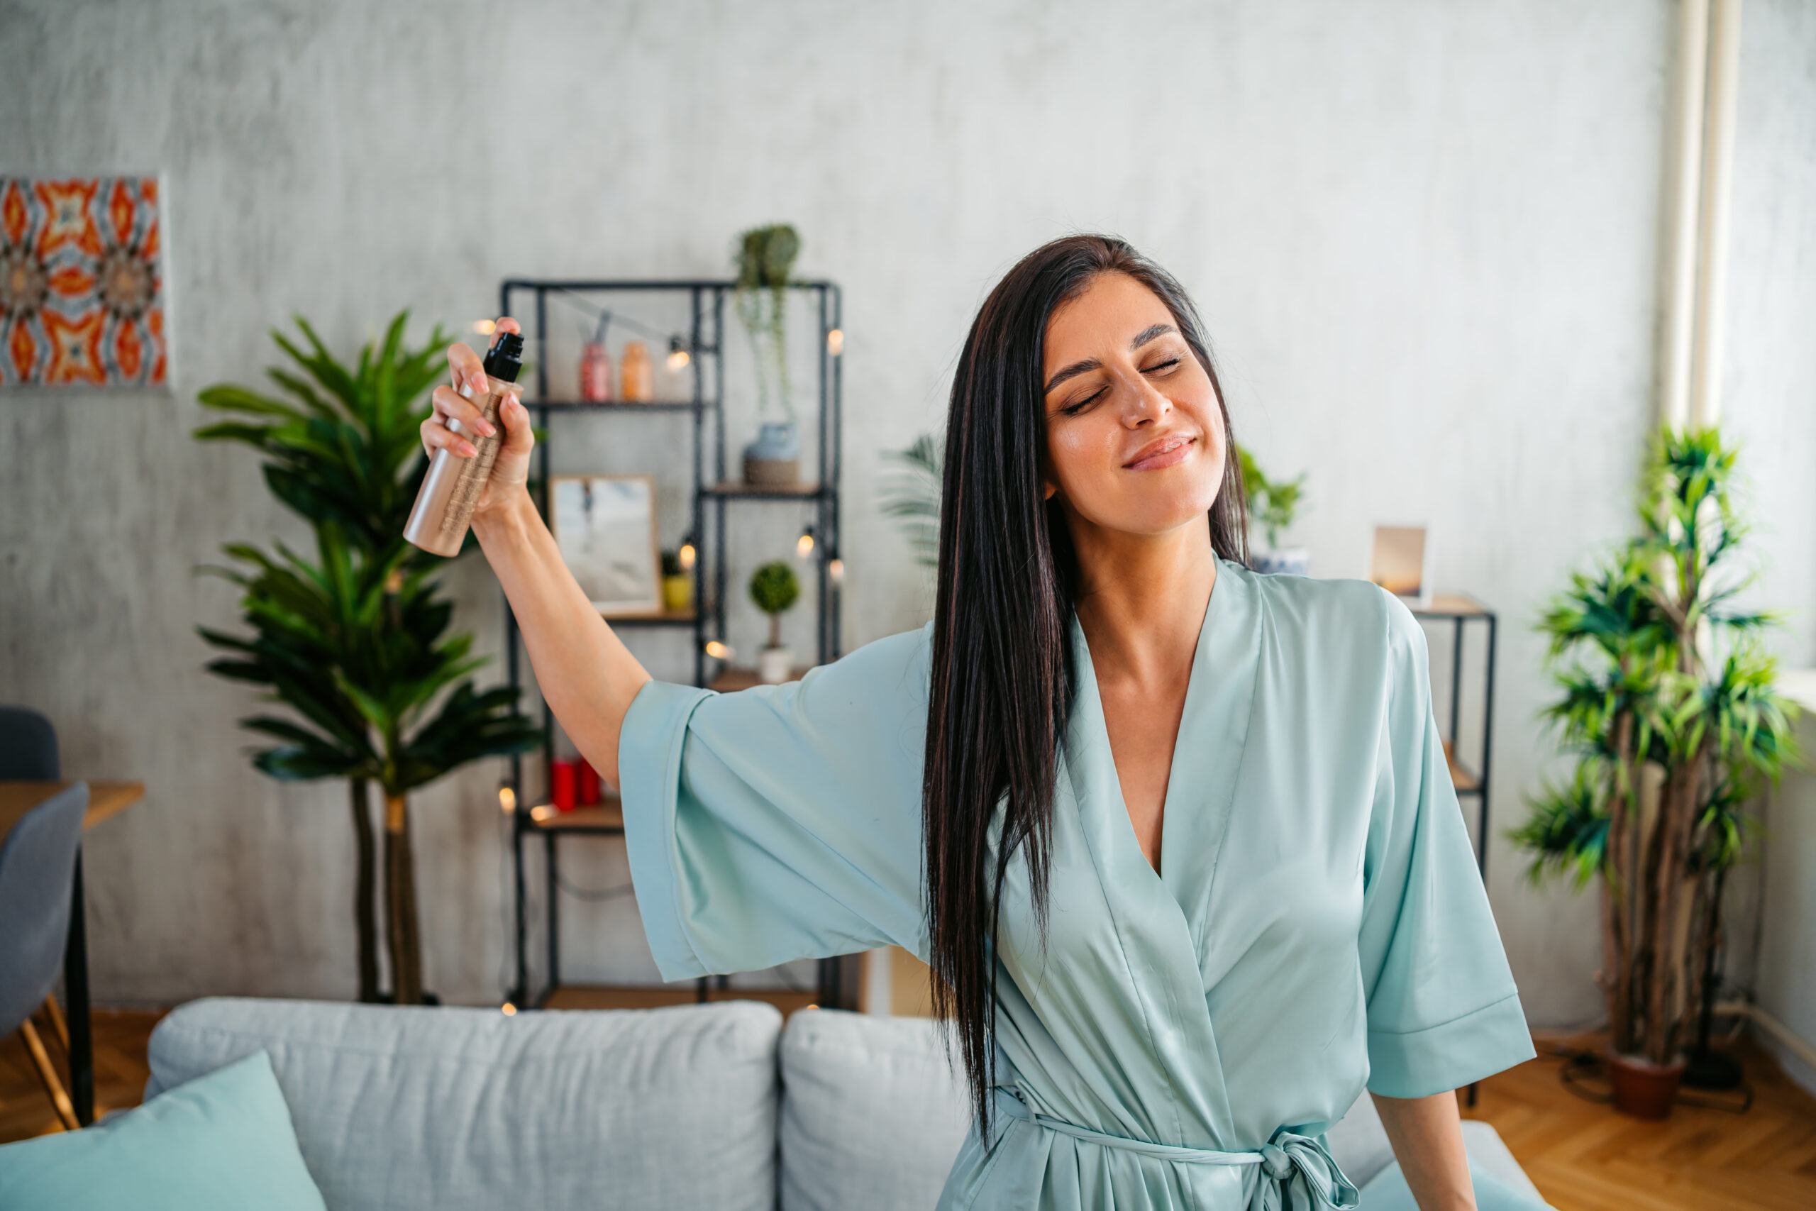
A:
[[[0,387],[162,387],[158,178],[0,176]]]

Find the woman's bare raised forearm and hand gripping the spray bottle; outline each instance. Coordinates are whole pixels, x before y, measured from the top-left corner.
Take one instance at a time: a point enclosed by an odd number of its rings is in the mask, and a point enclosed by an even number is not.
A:
[[[507,316],[498,321],[492,340],[518,330],[518,321]],[[434,412],[423,421],[423,447],[430,454],[449,448],[472,458],[478,450],[461,432],[483,432],[487,423],[458,389],[470,387],[472,398],[483,399],[485,369],[479,354],[456,343],[449,347],[449,370],[452,385],[436,387]],[[617,786],[625,712],[650,674],[592,608],[530,501],[527,485],[536,438],[528,409],[512,396],[498,419],[505,425],[505,441],[472,514],[472,532],[518,615],[543,697],[592,768]]]

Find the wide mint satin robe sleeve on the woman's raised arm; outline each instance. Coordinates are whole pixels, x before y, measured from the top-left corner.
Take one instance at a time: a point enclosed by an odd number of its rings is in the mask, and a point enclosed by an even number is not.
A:
[[[645,684],[619,739],[625,846],[665,980],[888,942],[926,953],[926,630],[801,681]]]

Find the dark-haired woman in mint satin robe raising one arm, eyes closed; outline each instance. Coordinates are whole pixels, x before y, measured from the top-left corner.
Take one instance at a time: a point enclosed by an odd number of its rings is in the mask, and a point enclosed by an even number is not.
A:
[[[434,409],[425,443],[470,454],[445,419],[472,405]],[[1475,1206],[1451,1091],[1533,1044],[1424,635],[1375,585],[1244,566],[1228,414],[1164,271],[1077,236],[992,290],[935,619],[795,684],[652,681],[525,492],[525,409],[501,419],[474,530],[621,786],[663,979],[926,959],[977,1113],[941,1207],[1349,1207],[1322,1133],[1364,1088],[1420,1207]]]

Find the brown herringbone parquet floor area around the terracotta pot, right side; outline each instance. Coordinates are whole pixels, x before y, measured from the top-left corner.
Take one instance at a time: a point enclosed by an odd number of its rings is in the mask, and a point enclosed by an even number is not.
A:
[[[1742,1039],[1729,1053],[1745,1066],[1738,1093],[1683,1091],[1663,1122],[1643,1122],[1571,1093],[1565,1057],[1596,1037],[1538,1040],[1538,1058],[1484,1080],[1466,1118],[1485,1118],[1507,1140],[1545,1202],[1558,1211],[1816,1211],[1816,1098],[1792,1084],[1762,1048]],[[1584,1078],[1584,1088],[1605,1084]]]

